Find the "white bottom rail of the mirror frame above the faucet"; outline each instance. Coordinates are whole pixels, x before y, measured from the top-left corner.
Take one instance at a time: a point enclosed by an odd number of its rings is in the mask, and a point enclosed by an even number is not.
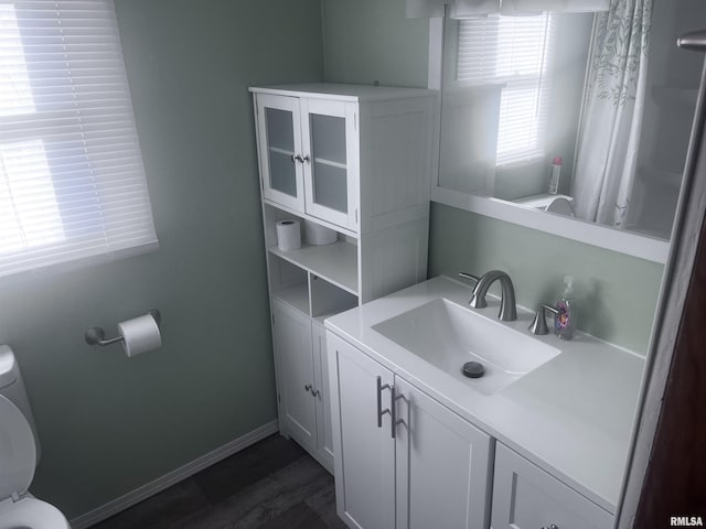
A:
[[[547,215],[545,212],[520,207],[498,198],[471,195],[439,186],[431,190],[431,202],[661,264],[666,262],[670,249],[670,242],[666,240],[574,218]],[[570,235],[564,236],[563,233]]]

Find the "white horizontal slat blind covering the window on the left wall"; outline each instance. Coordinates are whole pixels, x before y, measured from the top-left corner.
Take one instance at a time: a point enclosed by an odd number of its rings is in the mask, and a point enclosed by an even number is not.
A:
[[[17,13],[23,9],[22,2],[2,3],[17,3]],[[31,228],[22,226],[28,220],[20,218],[22,213],[18,213],[17,201],[24,199],[25,209],[32,212],[30,216],[41,217],[43,206],[36,205],[36,199],[28,191],[18,191],[23,185],[33,191],[38,176],[34,170],[28,171],[20,164],[30,159],[26,158],[29,154],[19,152],[15,147],[19,169],[12,171],[10,165],[0,168],[0,186],[3,185],[6,191],[0,198],[4,196],[12,208],[6,216],[19,219],[13,223],[10,218],[6,223],[9,231],[4,235],[10,238],[4,240],[9,249],[0,252],[0,281],[79,269],[159,248],[114,0],[90,0],[79,9],[71,6],[75,2],[63,4],[60,1],[54,10],[49,7],[53,2],[44,3],[46,6],[36,8],[36,13],[46,9],[46,17],[34,14],[22,18],[17,14],[21,50],[12,53],[12,48],[9,48],[10,53],[6,55],[6,64],[17,64],[11,62],[19,56],[25,61],[33,108],[17,114],[10,109],[0,116],[0,133],[3,145],[19,145],[30,139],[41,143],[42,155],[31,155],[36,160],[41,158],[47,168],[49,186],[53,187],[52,194],[58,208],[57,229],[63,237],[62,240],[42,244],[26,242],[32,229],[42,233],[44,228],[43,225]],[[89,17],[86,17],[86,12]],[[57,32],[56,28],[64,29]],[[88,41],[89,46],[92,42],[107,43],[107,46],[101,50],[103,54],[94,53],[96,57],[92,56],[87,66],[73,71],[71,65],[75,67],[77,61],[83,61],[84,55],[93,51],[85,52],[85,47],[82,48],[86,34],[84,28],[88,37],[94,37]],[[23,30],[28,31],[24,35]],[[46,40],[46,44],[42,39]],[[56,53],[57,48],[62,48],[58,42],[63,43],[63,52]],[[28,52],[26,46],[31,46],[32,51]],[[42,54],[41,58],[38,53]],[[63,62],[66,66],[54,66]],[[6,71],[6,75],[12,80],[11,68]],[[108,78],[110,80],[105,80]],[[65,87],[87,88],[88,96],[77,91],[67,104],[67,97],[62,93]],[[111,102],[116,97],[119,101],[117,107],[114,106],[116,102]],[[64,116],[69,107],[72,112],[66,118]],[[63,126],[64,122],[67,127]],[[25,125],[18,127],[18,123]],[[71,128],[68,123],[72,123]],[[58,128],[62,128],[62,132],[56,131]],[[79,134],[85,138],[83,143],[76,139],[76,130],[83,131]],[[98,130],[98,134],[92,136],[93,130]],[[84,145],[78,153],[77,144]],[[6,152],[10,152],[9,147]],[[21,179],[19,186],[13,179]],[[90,185],[94,192],[87,199],[88,194],[81,190]],[[63,188],[57,191],[57,186]],[[17,225],[14,233],[12,224]],[[12,240],[18,237],[26,238],[22,248],[10,249]]]

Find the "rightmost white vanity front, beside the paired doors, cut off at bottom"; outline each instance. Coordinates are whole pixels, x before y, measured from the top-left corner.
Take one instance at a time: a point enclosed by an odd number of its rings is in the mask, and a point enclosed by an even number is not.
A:
[[[498,443],[492,529],[609,529],[613,517]]]

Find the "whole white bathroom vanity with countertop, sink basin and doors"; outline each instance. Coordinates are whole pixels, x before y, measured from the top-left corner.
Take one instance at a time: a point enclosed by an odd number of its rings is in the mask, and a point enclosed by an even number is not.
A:
[[[350,527],[613,522],[643,358],[437,277],[325,321],[338,514]],[[479,357],[472,357],[474,350]],[[479,359],[485,375],[461,373]]]

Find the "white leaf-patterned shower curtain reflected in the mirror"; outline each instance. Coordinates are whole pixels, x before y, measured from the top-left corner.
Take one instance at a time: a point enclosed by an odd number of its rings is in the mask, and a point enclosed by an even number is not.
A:
[[[624,227],[638,170],[652,0],[611,0],[597,17],[574,204],[579,218]]]

